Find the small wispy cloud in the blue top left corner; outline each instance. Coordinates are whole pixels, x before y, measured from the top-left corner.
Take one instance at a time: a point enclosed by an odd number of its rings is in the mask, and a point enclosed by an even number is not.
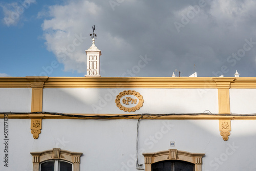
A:
[[[14,3],[1,3],[4,12],[3,23],[9,26],[17,26],[20,18],[22,18],[26,9],[30,7],[31,4],[34,4],[35,0],[24,0],[23,2],[14,2]]]

